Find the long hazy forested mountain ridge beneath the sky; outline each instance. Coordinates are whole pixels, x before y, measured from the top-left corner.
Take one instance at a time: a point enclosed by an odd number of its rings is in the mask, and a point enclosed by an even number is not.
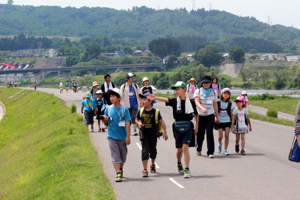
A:
[[[77,36],[144,38],[196,36],[209,43],[226,43],[237,37],[250,37],[296,48],[300,30],[281,25],[267,25],[253,17],[204,9],[188,12],[133,7],[61,8],[57,6],[18,6],[0,4],[0,35]]]

